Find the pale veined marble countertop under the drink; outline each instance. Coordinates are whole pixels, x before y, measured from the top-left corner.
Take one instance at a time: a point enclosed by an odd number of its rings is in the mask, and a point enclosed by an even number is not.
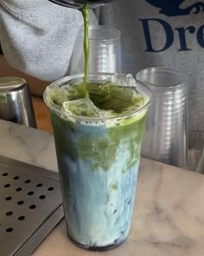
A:
[[[46,132],[0,121],[0,154],[57,171],[54,138]],[[64,220],[33,256],[202,256],[204,175],[142,159],[131,233],[105,253],[82,250],[67,238]]]

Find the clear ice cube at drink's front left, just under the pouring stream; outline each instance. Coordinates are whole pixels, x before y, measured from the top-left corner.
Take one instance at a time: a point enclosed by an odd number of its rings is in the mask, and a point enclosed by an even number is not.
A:
[[[99,108],[97,108],[88,98],[64,102],[63,108],[66,113],[71,115],[99,117]]]

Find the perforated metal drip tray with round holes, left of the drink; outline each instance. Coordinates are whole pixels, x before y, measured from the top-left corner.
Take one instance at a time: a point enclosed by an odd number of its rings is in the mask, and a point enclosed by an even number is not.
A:
[[[58,174],[0,156],[0,255],[28,256],[62,218]]]

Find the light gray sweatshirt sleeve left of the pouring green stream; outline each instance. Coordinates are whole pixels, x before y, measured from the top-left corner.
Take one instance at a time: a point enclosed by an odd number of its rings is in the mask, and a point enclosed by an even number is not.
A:
[[[45,81],[67,74],[83,24],[79,10],[48,0],[0,0],[0,42],[15,69]]]

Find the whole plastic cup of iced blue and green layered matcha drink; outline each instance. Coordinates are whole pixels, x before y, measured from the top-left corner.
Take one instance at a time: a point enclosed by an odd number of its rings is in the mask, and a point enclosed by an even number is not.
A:
[[[126,240],[150,93],[130,76],[67,76],[45,91],[61,178],[67,233],[104,250]],[[125,85],[125,86],[124,86]]]

